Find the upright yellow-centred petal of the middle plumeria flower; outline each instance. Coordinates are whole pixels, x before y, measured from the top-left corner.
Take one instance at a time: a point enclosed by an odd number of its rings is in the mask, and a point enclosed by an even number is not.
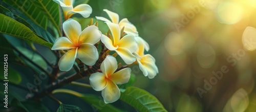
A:
[[[109,23],[109,22],[105,22],[105,23],[106,23],[106,25],[109,26],[109,29],[110,29],[110,31],[112,33],[112,36],[113,36],[113,45],[116,46],[116,44],[120,40],[119,26],[117,24],[113,24],[113,23]]]

